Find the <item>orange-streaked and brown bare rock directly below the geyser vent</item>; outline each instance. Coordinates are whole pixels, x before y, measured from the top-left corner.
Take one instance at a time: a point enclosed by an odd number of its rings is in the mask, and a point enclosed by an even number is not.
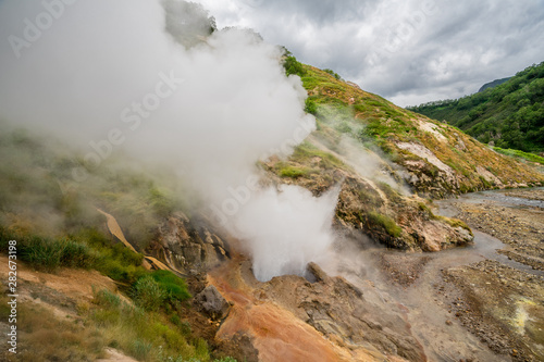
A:
[[[310,263],[308,272],[314,283],[294,275],[260,283],[249,261],[239,260],[212,272],[211,284],[233,303],[219,338],[247,333],[261,361],[426,360],[396,305],[382,310],[317,264]]]

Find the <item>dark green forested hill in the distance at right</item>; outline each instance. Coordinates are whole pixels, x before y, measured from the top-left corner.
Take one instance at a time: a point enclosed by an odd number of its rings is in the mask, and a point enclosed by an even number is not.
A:
[[[484,143],[544,152],[544,62],[482,92],[408,109],[445,120]]]

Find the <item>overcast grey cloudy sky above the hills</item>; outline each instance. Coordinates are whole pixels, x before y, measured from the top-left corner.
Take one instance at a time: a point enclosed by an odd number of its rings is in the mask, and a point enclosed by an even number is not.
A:
[[[198,0],[398,105],[458,98],[544,61],[544,0]]]

